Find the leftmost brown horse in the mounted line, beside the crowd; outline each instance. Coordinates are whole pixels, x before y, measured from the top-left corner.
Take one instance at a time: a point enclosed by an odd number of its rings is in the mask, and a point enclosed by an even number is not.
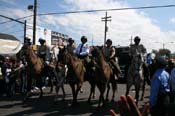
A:
[[[43,90],[42,90],[42,81],[43,77],[45,75],[45,69],[44,64],[42,60],[34,53],[31,46],[24,45],[20,52],[17,54],[20,55],[20,57],[23,57],[24,60],[27,62],[26,69],[26,75],[27,75],[27,87],[25,91],[25,97],[24,101],[27,100],[28,95],[31,91],[32,86],[32,78],[36,80],[36,83],[40,90],[39,98],[42,98],[43,96]]]

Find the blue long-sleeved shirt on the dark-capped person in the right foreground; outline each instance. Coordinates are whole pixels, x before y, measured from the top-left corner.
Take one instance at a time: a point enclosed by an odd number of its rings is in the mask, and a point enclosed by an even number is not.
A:
[[[150,106],[156,105],[158,94],[170,92],[170,76],[165,69],[157,69],[151,79]]]

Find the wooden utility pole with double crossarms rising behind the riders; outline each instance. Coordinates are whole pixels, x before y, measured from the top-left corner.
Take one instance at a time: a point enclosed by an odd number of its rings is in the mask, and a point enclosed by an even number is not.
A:
[[[106,43],[106,34],[107,34],[107,31],[108,31],[107,22],[111,21],[111,16],[108,16],[107,11],[106,11],[105,17],[102,17],[101,19],[102,19],[101,21],[105,22],[105,32],[104,32],[104,45],[105,45],[105,43]]]

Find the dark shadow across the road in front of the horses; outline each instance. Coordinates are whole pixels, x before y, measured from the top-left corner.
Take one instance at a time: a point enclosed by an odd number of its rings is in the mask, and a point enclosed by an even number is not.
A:
[[[68,95],[68,99],[65,101],[58,101],[54,103],[54,95],[44,96],[42,99],[37,97],[31,97],[23,103],[22,96],[16,95],[12,98],[0,97],[0,101],[9,102],[0,105],[0,109],[9,109],[7,116],[21,116],[21,115],[45,115],[45,116],[106,116],[110,115],[109,110],[113,108],[117,111],[116,104],[114,102],[108,102],[105,107],[102,107],[100,111],[96,110],[98,100],[92,100],[91,105],[87,103],[87,98],[79,98],[79,104],[71,106],[72,96]],[[61,98],[61,97],[60,97]],[[10,110],[13,109],[15,112]]]

